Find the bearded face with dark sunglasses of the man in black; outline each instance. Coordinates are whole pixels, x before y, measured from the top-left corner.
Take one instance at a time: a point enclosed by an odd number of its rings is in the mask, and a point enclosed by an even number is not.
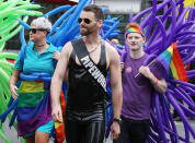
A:
[[[82,11],[80,16],[80,34],[83,36],[97,33],[103,21],[96,20],[93,12]]]

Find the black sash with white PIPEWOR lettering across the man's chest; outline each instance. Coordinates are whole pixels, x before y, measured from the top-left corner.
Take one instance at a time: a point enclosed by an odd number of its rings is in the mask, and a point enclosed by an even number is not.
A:
[[[71,44],[80,63],[83,65],[84,70],[90,73],[91,78],[93,78],[99,83],[97,85],[100,85],[100,88],[101,91],[103,91],[106,100],[108,100],[110,95],[106,91],[106,79],[101,70],[93,62],[93,60],[90,58],[83,39],[80,38],[72,40]],[[105,46],[104,40],[101,40],[101,46]]]

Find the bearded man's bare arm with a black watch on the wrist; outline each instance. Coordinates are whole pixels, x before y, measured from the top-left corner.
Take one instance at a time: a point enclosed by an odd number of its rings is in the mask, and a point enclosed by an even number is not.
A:
[[[113,47],[108,49],[108,70],[111,73],[111,88],[113,100],[114,118],[121,118],[122,103],[123,103],[123,90],[122,90],[122,75],[121,75],[121,61],[119,56]],[[114,121],[111,127],[111,138],[117,139],[121,133],[119,122]]]

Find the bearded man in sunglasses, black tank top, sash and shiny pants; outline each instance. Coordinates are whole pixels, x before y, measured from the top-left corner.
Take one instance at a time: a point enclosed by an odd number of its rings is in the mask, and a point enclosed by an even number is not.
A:
[[[65,130],[67,143],[103,143],[105,133],[105,85],[110,71],[114,110],[111,135],[121,132],[122,79],[117,51],[99,35],[104,14],[96,5],[81,12],[78,22],[82,38],[67,43],[51,80],[53,119],[61,122],[59,95],[68,75]],[[68,74],[67,74],[68,72]]]

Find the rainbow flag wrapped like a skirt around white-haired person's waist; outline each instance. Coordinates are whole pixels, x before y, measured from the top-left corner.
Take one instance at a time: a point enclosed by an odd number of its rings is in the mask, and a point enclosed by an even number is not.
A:
[[[44,82],[23,81],[18,98],[18,135],[32,133],[50,120],[50,95]]]

